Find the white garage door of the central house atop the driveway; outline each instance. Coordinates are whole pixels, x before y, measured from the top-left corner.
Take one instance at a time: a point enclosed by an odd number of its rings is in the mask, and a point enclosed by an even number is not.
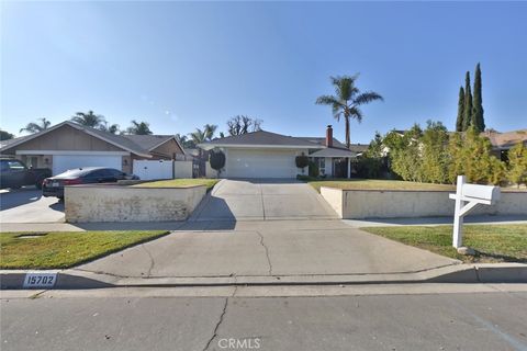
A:
[[[229,178],[295,178],[294,150],[229,149],[226,177]]]

